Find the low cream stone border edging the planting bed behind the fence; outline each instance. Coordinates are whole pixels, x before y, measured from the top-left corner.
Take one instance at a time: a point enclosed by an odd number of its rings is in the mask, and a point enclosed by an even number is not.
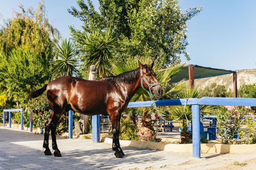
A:
[[[101,142],[112,144],[112,139],[103,137],[101,138]],[[120,145],[136,148],[165,150],[171,152],[192,153],[192,144],[164,144],[157,142],[120,140]],[[255,150],[256,144],[201,144],[201,153],[250,153],[251,151]]]

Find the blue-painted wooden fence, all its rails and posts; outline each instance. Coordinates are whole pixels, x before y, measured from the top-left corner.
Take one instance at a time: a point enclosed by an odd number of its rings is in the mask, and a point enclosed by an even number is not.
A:
[[[222,98],[222,97],[203,97],[203,98],[189,98],[189,99],[174,99],[174,100],[157,100],[157,101],[142,101],[142,102],[130,102],[128,108],[131,107],[157,107],[161,106],[180,106],[191,105],[192,106],[192,145],[193,145],[193,157],[200,158],[200,105],[218,105],[218,106],[254,106],[256,107],[255,98]],[[23,109],[11,109],[4,110],[3,125],[5,126],[5,112],[21,111],[21,129],[23,130]],[[11,116],[9,116],[9,119]],[[95,117],[93,123],[93,141],[99,142],[100,137],[100,123],[99,119]],[[11,120],[9,120],[9,127],[11,127]],[[72,138],[73,127],[73,113],[69,111],[69,138]]]

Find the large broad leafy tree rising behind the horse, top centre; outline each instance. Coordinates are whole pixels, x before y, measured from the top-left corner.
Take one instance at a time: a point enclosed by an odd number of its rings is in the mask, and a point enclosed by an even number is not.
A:
[[[193,8],[184,13],[175,0],[99,0],[100,12],[95,11],[91,1],[88,5],[78,0],[80,9],[71,7],[69,13],[83,21],[83,30],[70,26],[77,50],[82,56],[83,38],[88,32],[115,28],[119,43],[115,46],[114,61],[126,61],[131,56],[157,57],[164,67],[180,61],[186,52],[186,21],[198,14],[202,8]]]

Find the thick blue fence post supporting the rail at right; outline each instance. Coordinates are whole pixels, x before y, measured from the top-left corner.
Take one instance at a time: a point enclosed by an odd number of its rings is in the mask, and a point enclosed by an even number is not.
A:
[[[200,158],[200,106],[192,105],[193,157]]]

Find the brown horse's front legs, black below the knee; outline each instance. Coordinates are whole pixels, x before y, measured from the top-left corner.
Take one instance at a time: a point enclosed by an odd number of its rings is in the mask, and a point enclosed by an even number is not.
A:
[[[114,113],[114,114],[111,114],[110,117],[111,117],[111,122],[112,122],[112,136],[113,136],[112,149],[115,151],[114,154],[117,158],[123,158],[123,155],[122,155],[121,151],[118,149],[118,144],[117,144],[117,139],[119,138],[119,128],[118,128],[119,114]]]

